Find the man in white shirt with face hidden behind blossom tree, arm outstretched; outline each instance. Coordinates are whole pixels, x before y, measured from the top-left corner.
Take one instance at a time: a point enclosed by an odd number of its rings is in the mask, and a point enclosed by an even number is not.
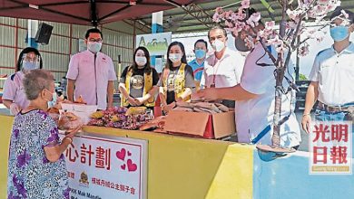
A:
[[[252,9],[250,15],[255,13]],[[261,24],[255,27],[256,31],[264,28]],[[243,31],[243,34],[247,34]],[[270,52],[277,56],[274,48]],[[263,66],[266,65],[266,66]],[[288,67],[293,69],[292,66]],[[261,133],[263,129],[271,127],[274,116],[274,93],[275,78],[273,72],[275,66],[270,61],[270,57],[265,53],[261,43],[257,43],[251,52],[247,55],[244,64],[241,82],[230,88],[210,88],[201,90],[199,97],[205,100],[236,100],[235,119],[238,141],[241,143],[261,143],[271,145],[271,136],[273,129],[265,134]],[[292,73],[293,70],[287,71]],[[288,77],[291,79],[291,77]],[[289,84],[284,80],[284,88]],[[280,126],[280,147],[294,147],[297,149],[300,145],[300,127],[293,112],[293,100],[295,95],[289,92],[282,96],[281,117],[289,116],[289,119]]]

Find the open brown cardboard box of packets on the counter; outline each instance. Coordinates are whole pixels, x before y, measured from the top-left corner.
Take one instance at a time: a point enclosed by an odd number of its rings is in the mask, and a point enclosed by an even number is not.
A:
[[[235,113],[230,111],[210,114],[172,110],[163,129],[192,137],[227,137],[236,132]]]

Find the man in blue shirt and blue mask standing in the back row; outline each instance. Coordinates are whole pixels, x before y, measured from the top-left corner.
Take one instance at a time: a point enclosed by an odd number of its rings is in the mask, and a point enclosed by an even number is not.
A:
[[[189,62],[188,65],[192,67],[194,80],[196,81],[197,88],[202,79],[202,71],[204,69],[204,61],[206,57],[206,52],[208,52],[208,43],[200,39],[194,43],[195,59]]]

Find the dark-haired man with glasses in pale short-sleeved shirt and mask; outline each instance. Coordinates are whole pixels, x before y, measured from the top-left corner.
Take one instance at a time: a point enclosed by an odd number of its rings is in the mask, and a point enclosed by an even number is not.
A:
[[[100,30],[89,29],[84,42],[87,50],[74,54],[69,63],[67,78],[68,100],[83,96],[88,105],[98,109],[113,107],[113,88],[117,76],[112,59],[100,52],[103,34]]]

